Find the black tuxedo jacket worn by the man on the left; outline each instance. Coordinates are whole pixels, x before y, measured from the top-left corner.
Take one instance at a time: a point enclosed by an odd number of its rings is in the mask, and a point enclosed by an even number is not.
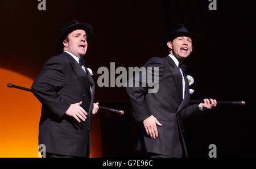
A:
[[[32,92],[42,103],[39,144],[46,145],[48,153],[88,157],[94,98],[94,82],[88,70],[85,73],[72,56],[63,52],[46,62],[32,84]],[[88,116],[77,122],[65,112],[80,101]]]

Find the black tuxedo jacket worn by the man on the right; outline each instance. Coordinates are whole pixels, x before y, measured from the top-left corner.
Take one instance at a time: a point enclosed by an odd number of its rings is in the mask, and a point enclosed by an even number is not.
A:
[[[185,78],[183,99],[182,76],[170,56],[151,58],[145,67],[146,70],[148,67],[159,67],[158,92],[149,93],[148,87],[126,87],[134,117],[141,122],[137,149],[171,157],[187,157],[182,119],[200,113],[198,104],[189,105],[187,78]],[[129,81],[136,82],[137,79],[141,81],[137,75]],[[147,136],[142,124],[142,121],[151,115],[162,124],[162,126],[157,126],[158,137],[155,139]]]

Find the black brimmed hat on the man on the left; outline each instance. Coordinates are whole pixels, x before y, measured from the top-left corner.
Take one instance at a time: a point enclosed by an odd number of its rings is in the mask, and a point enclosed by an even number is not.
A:
[[[89,40],[90,36],[92,36],[93,28],[89,23],[79,23],[76,20],[72,20],[60,29],[60,36],[56,44],[56,50],[59,53],[63,52],[63,40],[67,37],[68,33],[71,33],[77,29],[82,29],[86,32],[87,40]]]

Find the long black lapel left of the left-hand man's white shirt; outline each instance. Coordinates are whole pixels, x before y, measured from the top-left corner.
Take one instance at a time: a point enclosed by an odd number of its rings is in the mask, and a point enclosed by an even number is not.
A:
[[[71,66],[73,68],[73,71],[75,72],[77,78],[79,79],[82,86],[84,87],[86,94],[88,95],[88,98],[91,100],[88,74],[84,72],[82,67],[75,61],[75,59],[72,56],[70,56],[68,53],[65,53],[65,52],[63,52],[63,54],[69,59]]]

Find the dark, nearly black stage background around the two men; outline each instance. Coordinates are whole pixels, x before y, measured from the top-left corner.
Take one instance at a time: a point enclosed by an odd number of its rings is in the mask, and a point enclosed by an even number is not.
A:
[[[255,6],[252,1],[0,1],[0,67],[34,79],[55,51],[59,29],[71,20],[92,24],[87,65],[143,66],[151,57],[167,56],[163,36],[178,23],[199,33],[200,41],[185,61],[195,90],[192,100],[245,100],[246,106],[219,105],[185,121],[189,157],[256,157]],[[116,75],[117,77],[118,75]],[[22,84],[22,82],[20,83]],[[138,157],[136,122],[123,87],[96,87],[97,102],[125,110],[120,116],[100,112],[102,157]],[[39,112],[38,112],[39,113]]]

